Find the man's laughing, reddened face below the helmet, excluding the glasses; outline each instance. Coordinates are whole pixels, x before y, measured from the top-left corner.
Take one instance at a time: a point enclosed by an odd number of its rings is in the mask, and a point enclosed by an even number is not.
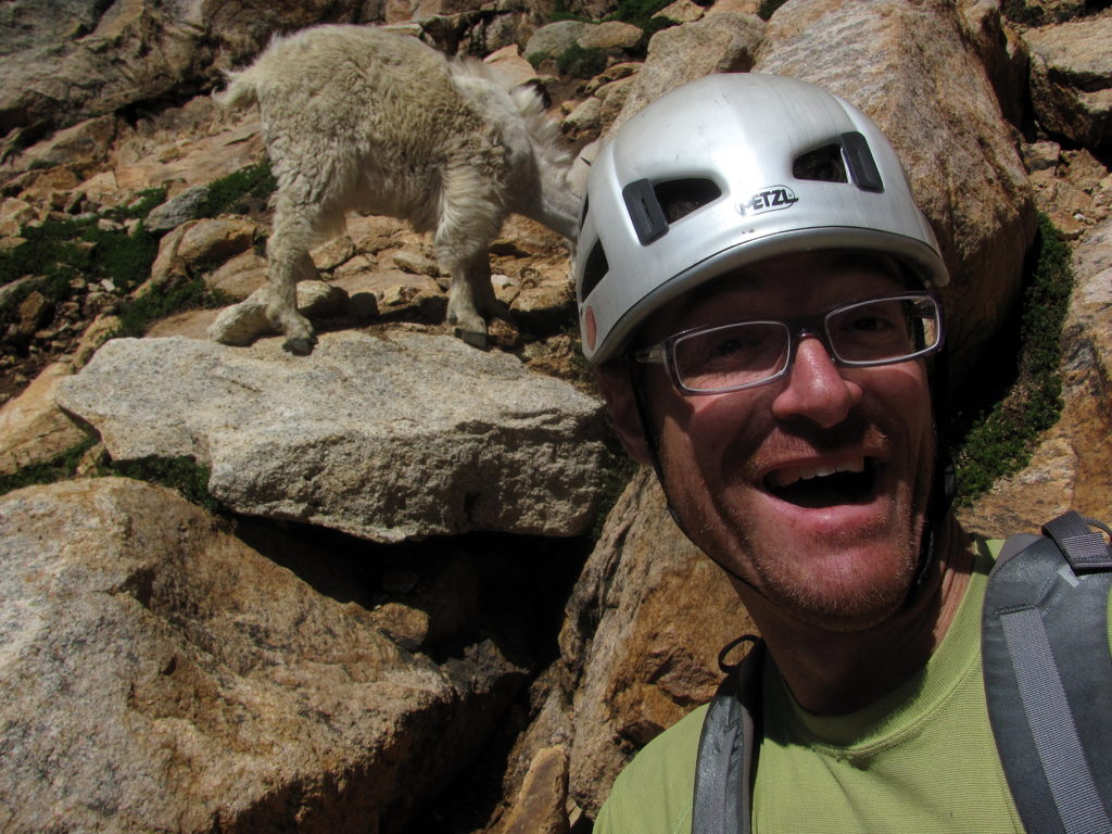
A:
[[[643,341],[906,288],[884,261],[778,257],[672,305]],[[685,396],[662,366],[646,367],[643,379],[665,489],[702,549],[812,625],[865,628],[898,609],[919,560],[934,460],[922,361],[838,368],[805,336],[788,376],[761,387]]]

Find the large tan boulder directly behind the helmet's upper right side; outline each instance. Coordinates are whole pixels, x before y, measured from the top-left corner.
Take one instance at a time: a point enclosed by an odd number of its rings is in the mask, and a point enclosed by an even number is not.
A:
[[[947,339],[964,375],[1015,298],[1034,209],[954,3],[798,0],[770,21],[754,70],[842,96],[892,140],[950,268]]]

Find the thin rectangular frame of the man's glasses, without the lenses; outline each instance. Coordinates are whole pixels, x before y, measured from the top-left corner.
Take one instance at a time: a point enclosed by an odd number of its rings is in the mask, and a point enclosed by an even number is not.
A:
[[[830,337],[830,330],[827,329],[831,318],[837,314],[845,312],[846,310],[852,310],[854,307],[864,307],[865,305],[876,304],[877,301],[903,301],[903,300],[914,300],[923,301],[927,300],[934,306],[935,310],[935,321],[939,327],[939,338],[934,345],[916,350],[914,354],[909,354],[906,356],[897,356],[890,359],[846,359],[838,355],[832,345]],[[716,330],[725,330],[726,328],[736,327],[737,325],[777,325],[783,327],[787,332],[787,353],[784,357],[783,367],[780,368],[775,374],[765,379],[758,379],[755,383],[742,383],[741,385],[732,385],[725,388],[692,388],[679,379],[679,371],[676,369],[676,345],[678,345],[684,339],[688,339],[693,336],[699,336],[703,334],[714,332]],[[942,314],[942,299],[935,294],[925,290],[914,291],[910,290],[906,292],[895,292],[886,296],[876,296],[874,298],[864,298],[860,301],[850,301],[848,304],[840,304],[835,307],[830,307],[821,312],[815,312],[808,316],[792,316],[790,318],[782,319],[752,319],[743,321],[732,321],[728,325],[713,325],[709,327],[693,327],[687,330],[681,330],[679,332],[673,334],[665,339],[651,345],[649,347],[641,348],[638,350],[632,351],[631,356],[634,361],[643,363],[647,365],[663,365],[668,377],[672,379],[673,385],[676,389],[683,391],[684,394],[691,394],[695,396],[706,396],[711,394],[728,394],[732,391],[746,390],[748,388],[758,388],[762,385],[768,385],[775,383],[778,379],[783,379],[792,370],[795,365],[795,354],[800,346],[800,342],[806,336],[814,336],[820,341],[823,342],[823,347],[826,348],[826,353],[830,355],[831,360],[835,366],[840,368],[877,368],[884,365],[898,365],[900,363],[911,361],[913,359],[922,359],[923,357],[931,356],[939,353],[942,349],[943,344],[946,340],[945,321]]]

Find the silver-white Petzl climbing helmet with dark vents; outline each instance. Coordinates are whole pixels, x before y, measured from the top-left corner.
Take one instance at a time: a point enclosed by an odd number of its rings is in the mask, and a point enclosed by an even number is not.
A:
[[[924,286],[949,281],[895,151],[863,112],[781,76],[685,85],[592,165],[575,262],[583,351],[605,361],[671,299],[815,249],[886,252]]]

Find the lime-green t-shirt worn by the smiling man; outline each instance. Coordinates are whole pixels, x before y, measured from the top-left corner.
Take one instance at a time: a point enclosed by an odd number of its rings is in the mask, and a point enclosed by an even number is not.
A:
[[[1023,833],[981,677],[981,607],[1000,544],[979,548],[961,607],[925,668],[860,712],[805,712],[770,658],[754,834]],[[683,718],[622,772],[595,834],[689,834],[705,713]]]

